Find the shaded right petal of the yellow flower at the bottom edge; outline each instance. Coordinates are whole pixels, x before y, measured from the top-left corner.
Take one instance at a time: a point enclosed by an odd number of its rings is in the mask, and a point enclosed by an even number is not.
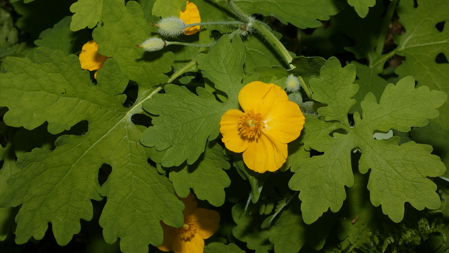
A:
[[[196,232],[201,235],[202,239],[211,237],[218,230],[220,214],[217,211],[197,208],[190,217],[196,224]]]

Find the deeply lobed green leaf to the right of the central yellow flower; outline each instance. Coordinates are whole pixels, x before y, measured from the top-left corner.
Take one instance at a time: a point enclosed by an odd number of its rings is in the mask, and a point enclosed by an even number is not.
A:
[[[357,93],[355,66],[342,68],[338,59],[330,58],[321,68],[321,79],[312,79],[310,88],[313,99],[327,107],[318,109],[326,122],[306,118],[304,129],[314,129],[304,136],[306,149],[310,146],[324,155],[303,160],[301,168],[289,182],[292,190],[300,191],[301,210],[306,224],[317,220],[329,208],[337,212],[346,198],[344,186],[351,187],[354,178],[351,169],[351,151],[358,147],[361,152],[359,170],[370,172],[368,189],[374,206],[382,204],[383,213],[394,222],[404,215],[404,203],[416,209],[438,209],[440,197],[436,185],[426,177],[440,176],[445,165],[440,158],[431,155],[428,145],[407,142],[398,146],[399,138],[375,140],[373,132],[396,129],[408,132],[410,127],[423,126],[428,118],[435,118],[436,110],[447,99],[441,91],[429,91],[428,87],[414,89],[414,79],[409,76],[396,85],[388,84],[380,98],[380,104],[372,93],[361,102],[363,119],[354,113],[355,125],[348,122],[347,113],[355,103],[350,99]],[[342,131],[333,132],[335,129]],[[333,133],[333,136],[330,135]],[[344,133],[344,134],[342,134]]]

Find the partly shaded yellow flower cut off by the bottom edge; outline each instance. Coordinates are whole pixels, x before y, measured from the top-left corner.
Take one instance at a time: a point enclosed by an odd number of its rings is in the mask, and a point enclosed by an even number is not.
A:
[[[179,197],[178,197],[179,198]],[[165,225],[164,241],[158,249],[174,251],[175,253],[202,253],[204,239],[211,237],[218,229],[220,214],[214,210],[197,208],[197,202],[192,193],[187,198],[179,198],[185,205],[184,225],[180,228]]]

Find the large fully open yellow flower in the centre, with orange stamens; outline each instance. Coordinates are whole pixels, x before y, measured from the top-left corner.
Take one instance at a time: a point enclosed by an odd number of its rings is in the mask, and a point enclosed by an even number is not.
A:
[[[245,85],[238,102],[245,112],[231,109],[221,116],[225,146],[243,152],[249,169],[276,171],[286,161],[287,143],[301,133],[304,115],[281,87],[260,81]]]

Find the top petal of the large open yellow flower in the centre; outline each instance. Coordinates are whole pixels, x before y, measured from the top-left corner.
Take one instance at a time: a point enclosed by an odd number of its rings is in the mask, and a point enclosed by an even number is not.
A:
[[[288,101],[287,93],[275,84],[254,81],[245,85],[238,93],[238,102],[243,111],[254,110],[266,118],[277,102]]]

